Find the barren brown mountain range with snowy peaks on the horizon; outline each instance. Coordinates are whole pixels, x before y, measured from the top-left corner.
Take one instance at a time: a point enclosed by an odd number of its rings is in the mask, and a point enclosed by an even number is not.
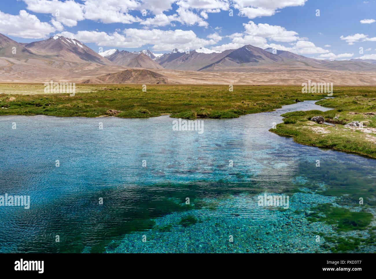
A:
[[[149,69],[154,72],[143,71],[135,74],[137,69]],[[132,71],[119,74],[125,70]],[[184,74],[176,71],[184,71]],[[233,73],[231,75],[236,77],[240,72],[278,72],[288,75],[292,72],[327,71],[335,71],[338,76],[345,75],[341,74],[341,71],[356,71],[359,75],[360,72],[371,74],[376,72],[376,60],[319,60],[283,50],[261,49],[253,45],[244,45],[223,52],[200,48],[190,51],[174,49],[165,54],[155,54],[150,50],[128,52],[117,49],[96,53],[77,39],[64,36],[52,36],[31,43],[18,43],[0,34],[0,81],[73,78],[78,82],[90,80],[114,82],[116,78],[112,79],[106,75],[116,74],[121,77],[122,83],[126,82],[126,77],[132,77],[132,82],[136,82],[137,76],[140,76],[140,83],[144,83],[143,80],[156,83],[168,83],[173,80],[173,83],[179,83],[180,80],[194,82],[195,79],[203,82],[205,78],[202,77],[205,74],[193,72],[231,72]],[[150,77],[147,78],[147,75]],[[169,78],[169,75],[179,76],[180,79]],[[374,76],[370,76],[370,80],[374,80]],[[373,84],[376,84],[376,80]]]

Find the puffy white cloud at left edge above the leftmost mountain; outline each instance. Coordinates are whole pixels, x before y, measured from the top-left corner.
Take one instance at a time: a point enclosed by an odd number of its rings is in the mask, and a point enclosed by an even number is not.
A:
[[[57,23],[55,24],[59,27]],[[54,26],[41,22],[35,15],[30,15],[25,10],[21,10],[18,15],[5,14],[0,11],[0,33],[6,35],[27,39],[45,38],[51,32],[55,32],[57,28]]]

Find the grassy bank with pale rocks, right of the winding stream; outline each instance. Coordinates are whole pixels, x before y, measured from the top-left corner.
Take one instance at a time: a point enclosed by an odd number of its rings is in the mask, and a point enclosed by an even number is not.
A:
[[[297,143],[330,147],[376,158],[376,90],[353,88],[336,93],[334,99],[317,102],[318,105],[334,108],[333,110],[283,114],[284,123],[278,124],[271,131],[293,136]],[[318,115],[336,126],[310,121]],[[363,127],[345,126],[352,121],[359,121]]]

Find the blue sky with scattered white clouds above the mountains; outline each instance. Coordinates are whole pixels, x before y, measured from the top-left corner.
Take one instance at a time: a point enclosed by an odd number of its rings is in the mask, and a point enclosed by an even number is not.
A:
[[[317,59],[376,59],[375,0],[2,0],[0,33],[17,42],[65,36],[109,49],[237,49]]]

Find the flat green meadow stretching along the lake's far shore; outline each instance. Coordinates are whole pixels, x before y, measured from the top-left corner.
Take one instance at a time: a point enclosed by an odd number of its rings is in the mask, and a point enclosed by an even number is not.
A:
[[[147,85],[143,92],[142,85],[77,84],[75,96],[47,94],[43,89],[43,84],[0,84],[0,114],[233,118],[323,95],[302,96],[300,86],[234,86],[229,92],[228,85]]]

